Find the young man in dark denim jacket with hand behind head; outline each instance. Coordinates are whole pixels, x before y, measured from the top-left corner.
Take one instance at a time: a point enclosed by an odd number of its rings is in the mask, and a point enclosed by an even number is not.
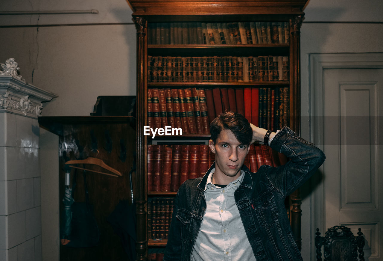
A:
[[[210,132],[215,162],[179,188],[163,260],[302,260],[284,202],[323,163],[323,152],[288,127],[274,133],[234,112],[214,119]],[[243,163],[255,141],[290,160],[250,172]]]

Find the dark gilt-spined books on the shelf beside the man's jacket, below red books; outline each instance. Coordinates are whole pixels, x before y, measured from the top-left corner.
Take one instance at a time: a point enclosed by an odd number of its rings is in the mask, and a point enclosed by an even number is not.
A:
[[[167,239],[172,220],[174,197],[151,197],[147,201],[148,238]]]

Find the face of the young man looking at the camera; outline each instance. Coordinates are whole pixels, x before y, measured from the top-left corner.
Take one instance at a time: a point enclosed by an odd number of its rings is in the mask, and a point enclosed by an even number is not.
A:
[[[241,144],[234,136],[233,132],[224,129],[214,144],[213,140],[209,140],[211,151],[215,154],[216,169],[214,175],[221,177],[233,177],[232,180],[240,175],[243,162],[245,161],[249,145]]]

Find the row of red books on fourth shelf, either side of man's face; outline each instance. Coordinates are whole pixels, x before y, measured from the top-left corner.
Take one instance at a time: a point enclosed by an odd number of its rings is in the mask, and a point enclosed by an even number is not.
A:
[[[148,145],[147,184],[148,191],[176,192],[189,178],[205,175],[215,160],[209,145]],[[286,162],[283,155],[266,145],[250,145],[244,164],[252,172],[260,166],[277,167]]]

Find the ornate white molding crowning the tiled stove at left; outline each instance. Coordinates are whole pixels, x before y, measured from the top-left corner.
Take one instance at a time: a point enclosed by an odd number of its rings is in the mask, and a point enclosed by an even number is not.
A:
[[[15,59],[8,59],[0,71],[0,112],[10,112],[27,117],[37,118],[43,109],[42,102],[58,97],[56,94],[26,83],[18,75],[18,64]]]

